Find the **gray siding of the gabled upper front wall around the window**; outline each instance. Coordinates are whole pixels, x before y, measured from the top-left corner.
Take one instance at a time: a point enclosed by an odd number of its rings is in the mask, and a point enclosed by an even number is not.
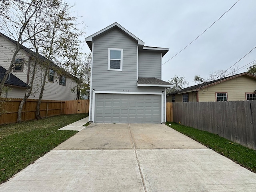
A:
[[[108,48],[123,49],[123,70],[108,71]],[[102,91],[135,91],[137,44],[119,30],[94,40],[92,88]]]

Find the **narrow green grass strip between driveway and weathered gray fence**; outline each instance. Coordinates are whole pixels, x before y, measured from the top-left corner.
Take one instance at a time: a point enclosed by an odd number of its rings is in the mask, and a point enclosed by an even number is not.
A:
[[[174,122],[166,122],[166,125],[181,132],[182,134],[200,142],[206,147],[226,156],[232,161],[240,164],[248,170],[256,173],[256,151],[244,147],[238,143],[212,134],[210,132],[198,130],[188,126],[179,125]]]

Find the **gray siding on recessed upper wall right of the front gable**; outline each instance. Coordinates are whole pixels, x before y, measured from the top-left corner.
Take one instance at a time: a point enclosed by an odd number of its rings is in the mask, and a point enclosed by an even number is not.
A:
[[[161,79],[161,53],[139,51],[138,76]]]

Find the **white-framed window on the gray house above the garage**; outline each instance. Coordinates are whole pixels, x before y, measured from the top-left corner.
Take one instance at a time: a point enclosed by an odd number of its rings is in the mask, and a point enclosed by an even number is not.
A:
[[[108,48],[108,70],[123,70],[123,49]]]

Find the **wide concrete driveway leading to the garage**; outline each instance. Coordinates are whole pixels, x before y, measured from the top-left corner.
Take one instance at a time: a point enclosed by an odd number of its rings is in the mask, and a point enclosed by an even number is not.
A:
[[[0,191],[256,191],[256,174],[164,124],[91,124]]]

